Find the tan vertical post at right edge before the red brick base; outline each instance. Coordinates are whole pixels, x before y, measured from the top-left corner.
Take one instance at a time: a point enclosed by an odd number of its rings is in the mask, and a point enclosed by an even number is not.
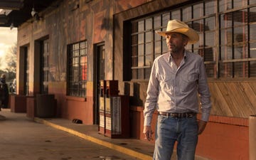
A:
[[[256,159],[256,115],[249,117],[249,156],[250,160]]]

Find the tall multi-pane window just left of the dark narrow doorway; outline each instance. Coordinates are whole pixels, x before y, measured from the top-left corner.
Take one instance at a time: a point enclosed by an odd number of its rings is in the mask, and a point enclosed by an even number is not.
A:
[[[67,95],[86,97],[87,41],[68,45]]]

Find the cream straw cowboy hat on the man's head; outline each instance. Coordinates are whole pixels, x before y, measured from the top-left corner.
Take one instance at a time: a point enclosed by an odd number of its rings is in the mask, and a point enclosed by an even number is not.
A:
[[[177,19],[168,21],[166,31],[156,31],[161,36],[166,36],[166,33],[182,33],[183,35],[188,36],[188,43],[193,44],[197,43],[199,40],[198,33],[192,28],[189,28],[186,23],[179,21]]]

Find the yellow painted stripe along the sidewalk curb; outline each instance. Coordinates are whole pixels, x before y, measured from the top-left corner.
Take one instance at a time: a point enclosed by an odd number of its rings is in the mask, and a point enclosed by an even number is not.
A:
[[[47,120],[40,119],[40,118],[38,118],[38,117],[35,117],[35,118],[34,118],[34,121],[35,121],[35,122],[38,122],[38,123],[46,124],[46,125],[48,125],[48,126],[50,126],[50,127],[53,127],[53,128],[55,128],[55,129],[60,129],[60,130],[62,130],[62,131],[65,131],[65,132],[68,132],[68,133],[73,134],[73,135],[75,135],[75,136],[78,136],[78,137],[80,137],[80,138],[82,138],[82,139],[86,139],[86,140],[88,140],[88,141],[90,141],[90,142],[94,142],[94,143],[100,144],[100,145],[102,145],[102,146],[106,146],[107,148],[114,149],[114,150],[116,150],[116,151],[122,152],[122,153],[124,153],[124,154],[129,155],[129,156],[134,156],[134,157],[136,157],[137,159],[143,159],[143,160],[151,160],[151,159],[152,159],[151,156],[148,156],[148,155],[146,155],[146,154],[139,153],[138,151],[133,151],[132,149],[127,149],[127,148],[125,148],[125,147],[123,147],[123,146],[118,146],[118,145],[112,144],[112,143],[110,143],[110,142],[105,142],[105,141],[102,141],[102,140],[100,140],[100,139],[96,139],[96,138],[91,137],[91,136],[88,136],[88,135],[86,135],[86,134],[82,134],[82,133],[80,133],[80,132],[77,132],[77,131],[75,131],[75,130],[73,130],[73,129],[68,129],[68,128],[62,127],[62,126],[60,126],[60,125],[58,125],[58,124],[53,124],[53,123],[51,123],[51,122],[48,122]]]

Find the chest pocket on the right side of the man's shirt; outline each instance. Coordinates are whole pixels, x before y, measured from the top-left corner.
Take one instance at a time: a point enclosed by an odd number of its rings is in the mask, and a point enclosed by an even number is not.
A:
[[[188,75],[183,75],[181,77],[181,91],[182,92],[189,92],[196,87],[196,83],[198,80],[198,74],[197,73],[192,73]]]

